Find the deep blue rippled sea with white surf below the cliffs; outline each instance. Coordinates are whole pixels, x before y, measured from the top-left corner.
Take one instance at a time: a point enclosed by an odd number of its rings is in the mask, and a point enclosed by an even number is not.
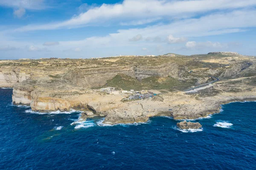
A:
[[[0,169],[3,170],[253,170],[256,102],[236,102],[180,131],[171,118],[105,126],[76,124],[79,112],[38,114],[12,105],[0,89]],[[74,123],[75,122],[75,123]]]

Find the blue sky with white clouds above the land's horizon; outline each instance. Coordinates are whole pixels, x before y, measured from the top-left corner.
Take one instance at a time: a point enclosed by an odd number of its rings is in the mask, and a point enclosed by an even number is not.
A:
[[[0,0],[0,59],[256,55],[256,0]]]

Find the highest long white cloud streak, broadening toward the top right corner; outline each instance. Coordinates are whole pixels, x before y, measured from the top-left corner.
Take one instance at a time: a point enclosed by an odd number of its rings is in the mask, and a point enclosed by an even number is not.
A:
[[[102,25],[102,23],[109,24],[110,21],[120,22],[121,20],[121,23],[125,23],[124,20],[144,20],[145,22],[145,20],[152,20],[157,17],[168,17],[169,19],[173,17],[174,19],[183,16],[194,16],[212,10],[241,9],[253,6],[256,6],[255,0],[124,0],[121,4],[102,4],[100,7],[93,7],[87,12],[72,17],[70,20],[23,26],[16,29],[16,31],[70,29],[78,26],[88,26],[92,23]],[[221,18],[217,19],[221,20]]]

